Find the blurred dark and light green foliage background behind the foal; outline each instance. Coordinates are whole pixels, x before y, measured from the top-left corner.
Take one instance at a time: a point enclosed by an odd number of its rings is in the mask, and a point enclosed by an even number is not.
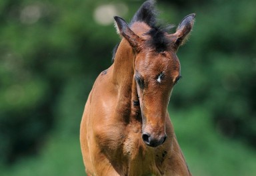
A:
[[[85,175],[79,125],[97,75],[143,1],[0,1],[0,175]],[[193,175],[256,175],[255,0],[158,1],[197,13],[169,104]]]

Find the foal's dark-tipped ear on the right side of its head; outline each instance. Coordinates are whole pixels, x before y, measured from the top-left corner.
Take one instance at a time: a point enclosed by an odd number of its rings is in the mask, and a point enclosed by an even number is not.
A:
[[[191,15],[187,15],[181,23],[179,23],[179,26],[177,27],[176,33],[174,34],[176,37],[175,45],[177,48],[185,43],[185,41],[189,37],[189,33],[191,32],[191,29],[193,28],[195,21],[195,13]]]

